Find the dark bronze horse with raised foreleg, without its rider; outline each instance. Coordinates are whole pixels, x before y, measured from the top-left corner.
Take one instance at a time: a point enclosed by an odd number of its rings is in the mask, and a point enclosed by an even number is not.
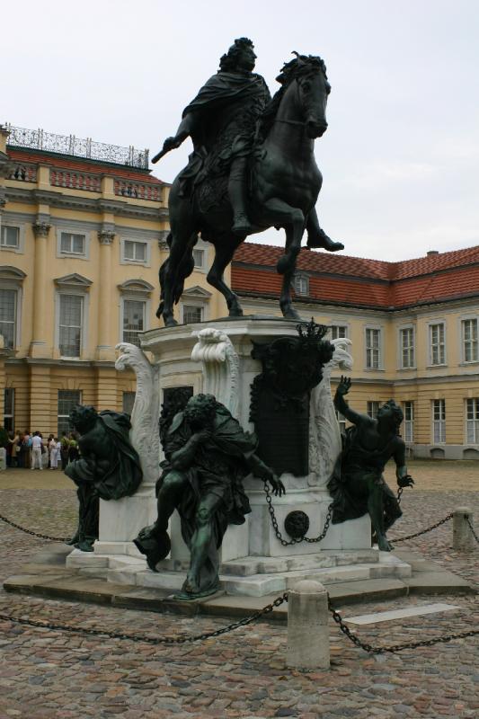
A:
[[[300,320],[291,302],[291,280],[310,213],[317,225],[312,210],[323,177],[315,162],[314,147],[315,138],[321,138],[327,129],[325,111],[331,86],[323,60],[313,56],[297,55],[282,68],[278,80],[281,87],[263,112],[251,158],[250,234],[271,226],[284,228],[285,253],[277,264],[277,271],[283,275],[279,306],[284,317]],[[208,178],[203,182],[208,182]],[[213,186],[215,189],[218,194],[221,192],[217,185]],[[178,177],[173,182],[169,198],[170,255],[160,269],[161,302],[156,312],[158,317],[163,316],[167,327],[177,324],[173,304],[179,301],[184,280],[193,271],[192,249],[199,232],[215,247],[208,283],[225,297],[230,317],[243,315],[238,297],[226,285],[223,272],[246,235],[232,233],[232,210],[225,192],[222,197],[203,211],[198,190],[191,200],[182,196]],[[323,232],[319,226],[316,229]]]

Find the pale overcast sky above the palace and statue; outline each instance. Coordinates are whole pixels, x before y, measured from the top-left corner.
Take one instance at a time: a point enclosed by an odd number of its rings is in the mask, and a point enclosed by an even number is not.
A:
[[[241,36],[271,93],[292,50],[324,58],[317,210],[345,253],[399,260],[479,244],[478,0],[5,3],[0,120],[154,155]],[[190,152],[188,140],[155,175],[172,182]]]

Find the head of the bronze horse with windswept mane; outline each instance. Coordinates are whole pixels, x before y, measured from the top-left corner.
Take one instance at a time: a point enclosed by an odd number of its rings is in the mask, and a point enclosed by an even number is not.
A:
[[[321,58],[313,55],[298,55],[288,62],[276,78],[279,83],[297,84],[297,98],[301,115],[306,125],[308,138],[321,138],[328,127],[326,104],[331,85],[326,76],[326,67]]]

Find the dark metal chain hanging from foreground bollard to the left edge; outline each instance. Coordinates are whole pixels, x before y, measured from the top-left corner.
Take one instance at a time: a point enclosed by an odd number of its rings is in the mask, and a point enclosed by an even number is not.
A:
[[[275,607],[280,607],[288,601],[288,592],[285,592],[281,596],[274,599],[271,604],[267,604],[262,609],[254,612],[250,617],[244,617],[233,624],[228,626],[222,626],[220,629],[215,629],[213,632],[204,632],[201,635],[187,635],[187,636],[145,636],[145,635],[128,635],[120,634],[119,632],[108,632],[105,629],[88,629],[84,626],[69,626],[63,624],[52,624],[51,622],[36,622],[33,619],[23,619],[21,617],[10,617],[6,614],[0,614],[0,621],[14,622],[15,624],[22,624],[25,626],[34,626],[40,629],[52,629],[58,632],[69,632],[70,634],[76,635],[88,635],[88,636],[108,636],[110,639],[128,639],[130,642],[143,642],[145,644],[186,644],[187,642],[200,642],[204,639],[210,639],[214,636],[225,635],[227,632],[233,632],[240,626],[246,626],[252,624],[260,617],[264,617],[270,614]]]

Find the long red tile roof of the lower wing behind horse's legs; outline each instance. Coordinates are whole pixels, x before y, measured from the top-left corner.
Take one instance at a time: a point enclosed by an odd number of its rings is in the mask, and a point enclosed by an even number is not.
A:
[[[278,297],[276,262],[282,247],[242,244],[232,265],[232,287]],[[297,269],[309,275],[308,301],[393,309],[479,296],[479,246],[404,262],[383,262],[303,250]],[[304,297],[306,299],[306,297]]]

